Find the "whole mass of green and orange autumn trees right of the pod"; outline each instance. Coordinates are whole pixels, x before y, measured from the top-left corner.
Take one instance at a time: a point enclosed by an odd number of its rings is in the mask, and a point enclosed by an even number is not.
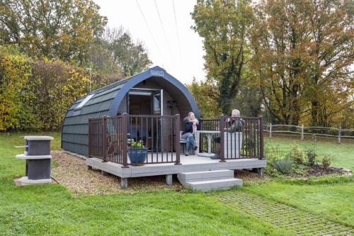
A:
[[[199,0],[192,17],[223,113],[353,127],[353,1]]]

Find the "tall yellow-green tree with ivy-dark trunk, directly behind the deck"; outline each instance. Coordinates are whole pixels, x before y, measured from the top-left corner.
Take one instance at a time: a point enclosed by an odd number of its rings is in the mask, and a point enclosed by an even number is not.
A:
[[[224,114],[239,91],[249,57],[247,33],[253,19],[250,1],[198,0],[192,13],[193,29],[204,39],[207,81],[219,89]]]

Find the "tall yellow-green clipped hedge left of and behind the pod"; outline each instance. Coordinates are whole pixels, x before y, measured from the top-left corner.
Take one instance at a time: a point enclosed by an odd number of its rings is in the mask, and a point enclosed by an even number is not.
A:
[[[93,89],[120,79],[93,74]],[[59,130],[67,108],[90,88],[88,72],[60,60],[31,60],[0,46],[0,130]]]

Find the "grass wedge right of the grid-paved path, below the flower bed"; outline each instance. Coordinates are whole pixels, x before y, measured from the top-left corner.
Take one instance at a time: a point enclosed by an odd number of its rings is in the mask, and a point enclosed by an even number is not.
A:
[[[265,184],[249,184],[244,190],[354,227],[353,181],[339,181],[335,184],[270,181]]]

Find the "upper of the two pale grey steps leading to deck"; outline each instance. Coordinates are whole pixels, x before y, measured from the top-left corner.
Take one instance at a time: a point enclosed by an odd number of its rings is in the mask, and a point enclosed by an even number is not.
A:
[[[178,180],[182,182],[205,181],[215,179],[231,179],[234,178],[234,171],[229,169],[220,169],[206,172],[183,172],[179,173]]]

